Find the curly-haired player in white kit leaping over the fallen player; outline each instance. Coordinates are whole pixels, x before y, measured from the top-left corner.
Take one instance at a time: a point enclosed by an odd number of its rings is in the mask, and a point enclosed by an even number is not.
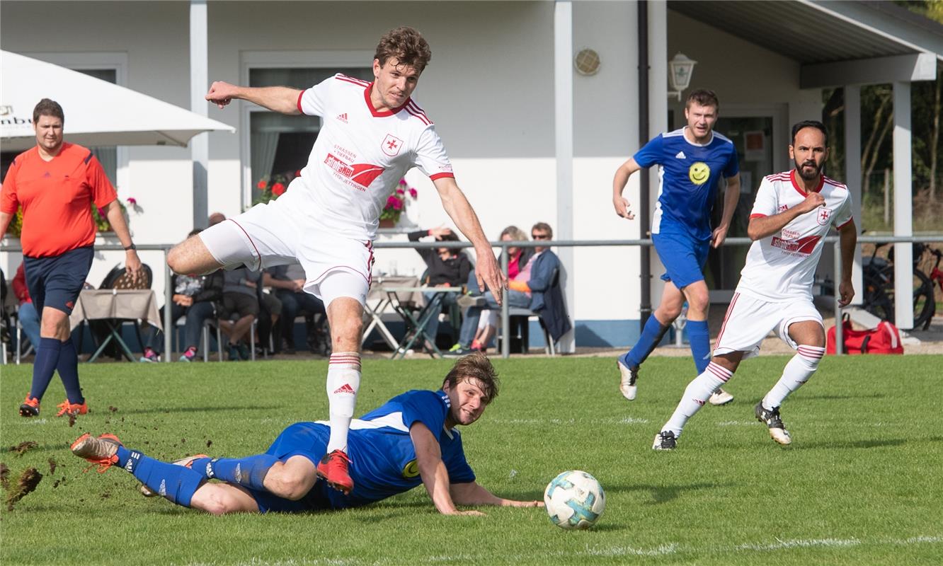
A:
[[[455,226],[474,244],[479,283],[500,301],[505,277],[465,195],[432,121],[411,94],[431,58],[411,27],[380,38],[372,83],[337,74],[310,89],[246,88],[214,82],[207,101],[246,100],[283,114],[316,115],[323,127],[307,166],[277,201],[258,204],[174,247],[177,273],[205,273],[245,264],[261,269],[299,262],[305,291],[323,300],[333,354],[327,371],[331,434],[317,466],[296,461],[292,474],[323,477],[350,493],[347,433],[360,385],[363,305],[370,287],[372,240],[380,211],[405,172],[418,167],[436,186]],[[356,455],[355,455],[356,457]]]

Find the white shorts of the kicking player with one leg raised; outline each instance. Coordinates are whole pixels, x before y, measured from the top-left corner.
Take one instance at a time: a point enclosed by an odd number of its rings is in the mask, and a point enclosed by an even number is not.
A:
[[[367,300],[372,242],[329,234],[317,218],[299,213],[284,196],[256,204],[199,236],[223,267],[245,264],[260,270],[297,261],[305,268],[305,291],[322,299],[324,306],[338,297],[356,299],[361,305]]]

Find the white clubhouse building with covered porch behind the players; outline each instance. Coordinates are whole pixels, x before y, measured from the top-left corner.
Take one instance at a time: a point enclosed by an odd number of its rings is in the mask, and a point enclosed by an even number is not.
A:
[[[642,32],[650,66],[650,127],[641,136],[640,8],[647,10]],[[508,224],[526,230],[541,220],[554,227],[556,239],[641,237],[638,222],[613,213],[612,176],[640,138],[683,123],[683,105],[669,95],[668,61],[677,53],[698,61],[691,88],[714,89],[720,96],[718,130],[738,144],[745,190],[753,193],[762,175],[789,168],[789,125],[820,119],[820,89],[852,85],[846,104],[853,108],[857,85],[878,82],[893,82],[898,93],[895,186],[909,186],[909,82],[933,79],[943,54],[943,27],[890,3],[811,0],[641,7],[635,1],[5,0],[0,47],[96,71],[174,105],[192,104],[237,128],[236,134],[197,137],[190,149],[131,147],[111,154],[119,196],[134,197],[144,210],[131,217],[136,242],[163,244],[182,239],[194,226],[194,202],[199,218],[207,210],[234,215],[252,202],[263,175],[299,169],[320,127],[317,119],[275,116],[248,103],[209,107],[201,101],[210,81],[301,88],[338,71],[369,78],[376,40],[400,24],[418,28],[432,46],[415,98],[436,122],[459,186],[495,239]],[[599,55],[597,73],[574,69],[573,57],[583,48]],[[56,85],[49,86],[49,97],[56,98]],[[80,111],[65,108],[67,116]],[[858,125],[849,122],[851,138]],[[744,152],[748,135],[752,149]],[[194,182],[194,159],[207,166],[205,202],[201,177]],[[852,167],[845,177],[856,187],[860,171]],[[420,191],[409,220],[422,227],[447,224],[431,183],[415,170],[407,179]],[[637,179],[626,190],[634,203]],[[904,192],[896,202],[899,234],[910,230]],[[738,214],[749,210],[752,194],[743,194],[741,202]],[[402,234],[382,238],[405,240]],[[640,316],[638,249],[556,251],[567,270],[575,343],[632,344]],[[724,250],[712,267],[721,290],[717,299],[736,284],[744,253]],[[159,253],[143,255],[156,270],[161,266]],[[92,267],[91,283],[121,257],[104,256]],[[19,261],[17,254],[3,253],[0,267],[11,273]],[[656,264],[653,259],[653,282],[661,272]],[[382,251],[375,268],[418,274],[422,267],[414,251],[398,250]],[[158,277],[158,293],[162,284]],[[656,299],[659,289],[653,287]]]

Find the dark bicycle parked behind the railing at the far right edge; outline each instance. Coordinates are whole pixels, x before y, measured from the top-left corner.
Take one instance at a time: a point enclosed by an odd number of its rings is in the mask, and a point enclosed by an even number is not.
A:
[[[882,320],[894,320],[894,250],[891,249],[887,259],[878,257],[877,252],[887,244],[876,244],[870,257],[862,260],[864,279],[864,297],[862,307],[870,314]],[[929,251],[936,257],[936,265],[928,276],[920,269],[920,260],[924,253]],[[934,281],[943,288],[943,271],[939,264],[943,252],[933,250],[926,244],[914,244],[914,329],[922,327],[927,330],[936,312],[934,295]]]

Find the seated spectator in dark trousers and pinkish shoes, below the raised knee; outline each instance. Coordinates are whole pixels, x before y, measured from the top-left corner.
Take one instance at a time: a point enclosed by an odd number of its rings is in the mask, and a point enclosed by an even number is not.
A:
[[[199,234],[193,230],[188,235]],[[184,323],[184,349],[180,362],[192,362],[200,344],[200,331],[207,318],[216,315],[214,301],[223,299],[223,271],[214,271],[207,275],[171,275],[171,325],[175,325],[181,316],[186,316]],[[164,305],[160,309],[160,319],[164,319]],[[174,328],[172,326],[171,328]],[[147,346],[141,362],[158,362],[164,347],[164,334],[158,330],[150,332]],[[208,345],[207,345],[208,348]]]

